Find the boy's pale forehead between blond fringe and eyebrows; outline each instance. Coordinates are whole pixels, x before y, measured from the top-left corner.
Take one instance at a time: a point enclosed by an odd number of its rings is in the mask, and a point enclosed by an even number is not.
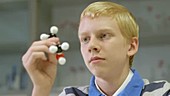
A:
[[[97,26],[97,27],[96,27]],[[101,30],[113,30],[117,29],[117,22],[107,16],[99,16],[91,18],[89,16],[84,16],[79,24],[78,34],[86,33],[88,30],[101,31]]]

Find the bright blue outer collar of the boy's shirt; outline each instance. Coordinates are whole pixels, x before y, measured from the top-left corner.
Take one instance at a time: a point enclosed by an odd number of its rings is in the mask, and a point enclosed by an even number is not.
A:
[[[118,91],[118,94],[117,95],[115,94],[115,96],[140,96],[140,93],[144,86],[144,82],[135,69],[132,69],[132,73],[134,75],[131,77],[131,80],[129,80],[129,82],[125,84],[126,86],[122,84],[122,86],[124,86],[125,88],[123,88],[123,90],[122,88],[120,88],[121,90]],[[97,89],[95,85],[95,76],[92,76],[90,80],[89,96],[105,96],[104,94],[102,94],[102,92],[100,92]]]

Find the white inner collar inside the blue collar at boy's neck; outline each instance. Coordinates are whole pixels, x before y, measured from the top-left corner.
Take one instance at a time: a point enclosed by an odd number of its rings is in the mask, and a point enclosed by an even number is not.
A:
[[[128,76],[126,77],[126,79],[125,79],[125,81],[123,82],[123,84],[119,87],[119,89],[118,89],[112,96],[117,96],[122,90],[124,90],[125,87],[128,85],[128,83],[130,82],[130,80],[132,79],[132,77],[133,77],[133,72],[130,70],[130,71],[129,71],[129,74],[128,74]],[[99,86],[97,85],[96,80],[95,80],[95,85],[96,85],[96,88],[97,88],[103,95],[107,96],[106,94],[104,94],[104,93],[100,90]]]

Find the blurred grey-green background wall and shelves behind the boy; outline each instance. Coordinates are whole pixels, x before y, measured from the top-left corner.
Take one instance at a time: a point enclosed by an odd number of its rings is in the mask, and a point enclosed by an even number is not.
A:
[[[70,43],[67,63],[59,66],[51,96],[66,86],[89,84],[79,51],[77,29],[82,10],[98,0],[0,0],[0,96],[30,96],[32,84],[22,55],[51,26]],[[105,1],[105,0],[103,0]],[[110,0],[126,6],[140,25],[140,48],[133,67],[150,81],[170,81],[170,0]]]

